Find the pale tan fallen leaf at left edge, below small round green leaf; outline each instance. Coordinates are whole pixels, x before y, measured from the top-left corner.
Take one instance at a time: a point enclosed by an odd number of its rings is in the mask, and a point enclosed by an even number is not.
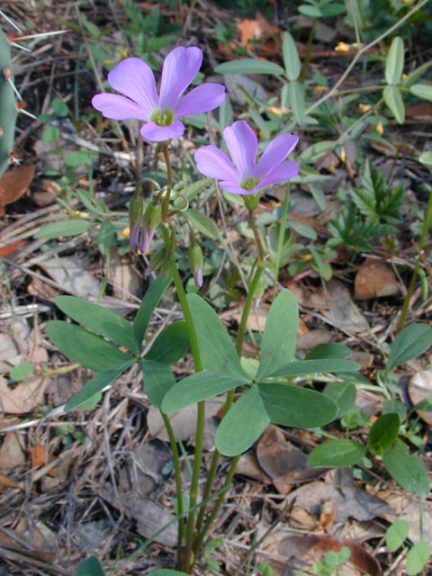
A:
[[[23,380],[14,388],[9,388],[0,376],[0,413],[26,414],[42,404],[47,378],[33,376]]]

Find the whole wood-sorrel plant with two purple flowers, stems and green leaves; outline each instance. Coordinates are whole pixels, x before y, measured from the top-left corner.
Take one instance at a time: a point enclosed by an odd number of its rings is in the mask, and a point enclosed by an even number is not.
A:
[[[175,262],[175,229],[177,220],[188,223],[192,244],[190,263],[198,287],[202,285],[202,252],[195,238],[193,224],[187,211],[175,208],[169,142],[179,138],[184,125],[178,118],[207,112],[224,99],[221,85],[204,84],[182,97],[202,62],[198,48],[176,48],[166,57],[162,70],[159,96],[155,78],[148,65],[139,58],[128,58],[108,75],[118,94],[97,94],[94,106],[103,115],[117,120],[130,118],[146,121],[141,128],[145,139],[162,142],[166,160],[167,184],[156,188],[150,202],[141,196],[142,181],[130,202],[130,244],[147,251],[155,231],[159,229],[165,243],[163,257],[157,257],[154,267],[162,266],[162,275],[150,285],[140,304],[138,314],[130,323],[112,311],[69,296],[57,299],[58,308],[84,328],[63,321],[47,325],[49,338],[67,356],[97,374],[67,403],[67,410],[76,408],[100,394],[131,365],[138,364],[148,400],[161,410],[175,462],[178,518],[177,571],[157,570],[158,576],[188,574],[199,558],[202,543],[236,470],[239,456],[256,442],[270,422],[295,428],[320,427],[335,419],[338,406],[329,396],[312,388],[295,385],[295,378],[320,373],[349,373],[358,368],[347,360],[346,347],[332,347],[327,356],[311,354],[305,360],[295,356],[298,328],[298,309],[293,294],[282,290],[271,305],[260,348],[257,373],[253,376],[243,369],[240,358],[247,318],[266,266],[266,254],[261,245],[254,220],[260,190],[269,184],[287,181],[298,173],[294,161],[285,161],[293,151],[298,138],[291,134],[277,136],[257,161],[257,137],[245,121],[236,121],[224,130],[229,159],[220,149],[206,146],[195,154],[198,170],[206,176],[220,180],[220,187],[228,193],[241,194],[249,215],[249,225],[257,244],[257,259],[250,271],[248,293],[238,326],[236,345],[220,321],[217,313],[197,293],[185,294],[182,279]],[[174,195],[174,194],[173,194]],[[164,279],[165,278],[165,279]],[[145,356],[141,345],[145,338],[150,316],[171,281],[174,281],[184,321],[163,329]],[[126,348],[121,351],[117,346]],[[194,374],[175,382],[170,365],[184,356],[190,347]],[[309,379],[311,381],[311,379]],[[240,392],[237,401],[234,393]],[[215,436],[210,472],[202,495],[198,485],[202,464],[202,438],[205,401],[225,394],[223,418]],[[168,414],[197,402],[196,444],[193,454],[193,475],[189,499],[183,499],[184,488],[180,473],[180,460]],[[232,457],[229,473],[220,491],[215,492],[213,482],[218,472],[220,455]],[[187,502],[187,509],[184,508]],[[83,572],[84,571],[84,572]],[[178,572],[182,571],[182,572]],[[95,558],[78,568],[77,574],[103,574]]]

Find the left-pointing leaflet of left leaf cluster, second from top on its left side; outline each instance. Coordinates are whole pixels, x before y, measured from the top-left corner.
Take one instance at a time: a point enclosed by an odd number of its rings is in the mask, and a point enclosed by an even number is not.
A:
[[[76,324],[50,320],[46,331],[51,342],[66,356],[94,372],[133,362],[129,354]]]

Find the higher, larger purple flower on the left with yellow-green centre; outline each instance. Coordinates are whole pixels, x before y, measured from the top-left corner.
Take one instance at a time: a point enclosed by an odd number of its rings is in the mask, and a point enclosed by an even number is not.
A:
[[[108,83],[119,94],[96,94],[92,104],[106,118],[148,122],[140,132],[145,139],[161,142],[179,138],[184,132],[183,116],[209,112],[225,99],[225,87],[202,84],[180,99],[197,75],[202,50],[195,46],[175,48],[166,56],[159,95],[151,68],[140,58],[126,58],[108,74]]]

